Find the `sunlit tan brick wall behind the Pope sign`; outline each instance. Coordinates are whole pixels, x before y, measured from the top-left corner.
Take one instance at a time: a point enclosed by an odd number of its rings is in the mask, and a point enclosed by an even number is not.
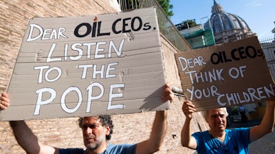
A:
[[[115,1],[115,0],[114,0]],[[118,12],[113,0],[1,0],[0,1],[0,93],[8,86],[8,80],[12,74],[12,67],[16,61],[21,45],[21,39],[28,20],[33,17],[77,17],[95,14]],[[177,49],[162,36],[162,48],[164,51],[164,65],[166,76],[175,87],[180,87],[174,54]],[[28,101],[28,100],[26,100]],[[168,111],[168,132],[162,150],[157,153],[194,153],[183,148],[180,144],[180,132],[184,124],[185,116],[181,112],[179,98],[171,104]],[[137,143],[148,139],[155,112],[135,113],[128,115],[113,115],[115,124],[111,142],[113,144]],[[51,144],[61,148],[83,146],[83,137],[78,128],[77,118],[63,118],[51,120],[27,120],[34,134],[40,142]],[[199,126],[198,126],[199,124]],[[203,131],[206,124],[199,113],[192,120],[192,131]],[[8,122],[0,122],[0,153],[21,154],[25,153],[14,139]]]

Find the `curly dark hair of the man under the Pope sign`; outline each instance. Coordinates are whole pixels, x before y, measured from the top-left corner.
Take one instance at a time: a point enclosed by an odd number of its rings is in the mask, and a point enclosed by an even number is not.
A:
[[[83,117],[78,119],[78,126],[82,128]],[[113,120],[111,120],[111,115],[99,115],[98,119],[100,119],[100,123],[102,126],[109,126],[110,133],[106,135],[106,140],[111,140],[111,134],[113,133]]]

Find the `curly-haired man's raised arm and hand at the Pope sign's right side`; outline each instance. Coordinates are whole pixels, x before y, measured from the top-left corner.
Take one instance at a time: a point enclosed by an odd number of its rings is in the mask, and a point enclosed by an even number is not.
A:
[[[170,84],[164,85],[162,101],[170,100],[173,102],[173,92]],[[136,154],[155,153],[159,151],[167,130],[167,111],[156,111],[150,138],[137,144]]]

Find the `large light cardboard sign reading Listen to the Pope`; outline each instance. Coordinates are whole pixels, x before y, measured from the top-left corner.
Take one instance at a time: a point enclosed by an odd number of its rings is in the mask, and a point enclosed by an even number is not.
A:
[[[169,109],[155,8],[31,19],[1,120]]]

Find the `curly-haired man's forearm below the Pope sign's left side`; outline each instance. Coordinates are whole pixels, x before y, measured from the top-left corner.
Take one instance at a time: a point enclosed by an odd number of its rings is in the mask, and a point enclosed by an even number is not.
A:
[[[24,121],[10,121],[10,126],[18,144],[26,153],[39,153],[40,147],[37,137]]]

